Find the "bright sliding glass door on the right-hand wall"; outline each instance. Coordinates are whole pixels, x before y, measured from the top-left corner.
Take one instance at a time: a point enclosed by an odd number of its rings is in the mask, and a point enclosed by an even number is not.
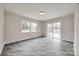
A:
[[[61,22],[48,24],[47,36],[53,39],[61,39]]]

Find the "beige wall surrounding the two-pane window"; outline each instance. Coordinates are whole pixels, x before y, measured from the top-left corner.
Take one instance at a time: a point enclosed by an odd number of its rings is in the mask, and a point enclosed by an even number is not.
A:
[[[21,33],[21,20],[26,19],[27,21],[36,22],[38,24],[37,32]],[[42,23],[35,19],[15,15],[12,13],[5,12],[5,43],[11,43],[21,41],[29,38],[34,38],[42,35]]]

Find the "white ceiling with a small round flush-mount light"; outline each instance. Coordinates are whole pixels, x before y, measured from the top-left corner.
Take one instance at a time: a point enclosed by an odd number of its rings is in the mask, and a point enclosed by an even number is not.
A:
[[[74,6],[74,3],[7,3],[5,10],[37,20],[48,20],[72,14]],[[42,10],[44,15],[40,15]]]

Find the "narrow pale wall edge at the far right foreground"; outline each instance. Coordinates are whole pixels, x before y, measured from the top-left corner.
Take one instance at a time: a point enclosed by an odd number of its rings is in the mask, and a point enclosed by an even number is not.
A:
[[[79,5],[76,5],[74,15],[74,51],[79,56]]]

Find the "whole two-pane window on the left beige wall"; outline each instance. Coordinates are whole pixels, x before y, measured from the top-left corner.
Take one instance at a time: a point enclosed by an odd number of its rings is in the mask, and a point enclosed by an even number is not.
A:
[[[21,21],[21,32],[36,32],[37,23],[28,22],[27,20]]]

